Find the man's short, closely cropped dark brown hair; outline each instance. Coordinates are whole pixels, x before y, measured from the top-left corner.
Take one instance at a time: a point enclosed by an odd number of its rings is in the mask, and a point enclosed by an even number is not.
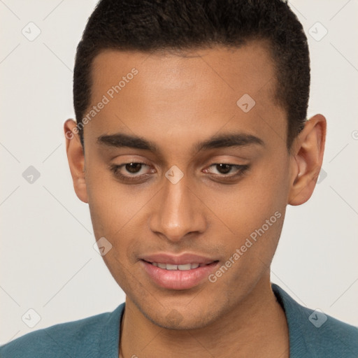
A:
[[[303,27],[282,0],[101,0],[78,44],[73,103],[83,144],[94,57],[105,49],[193,50],[238,48],[266,40],[275,64],[275,98],[285,108],[287,148],[306,122],[310,57]],[[80,124],[80,125],[79,125]]]

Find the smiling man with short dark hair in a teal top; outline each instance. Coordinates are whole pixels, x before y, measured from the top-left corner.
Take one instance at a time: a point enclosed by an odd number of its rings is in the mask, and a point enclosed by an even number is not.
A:
[[[308,201],[322,164],[309,85],[283,1],[101,1],[64,133],[126,302],[1,357],[357,357],[355,327],[270,282],[285,208]]]

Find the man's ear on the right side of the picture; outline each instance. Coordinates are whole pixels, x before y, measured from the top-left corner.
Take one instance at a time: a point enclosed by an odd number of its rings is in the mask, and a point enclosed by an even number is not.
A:
[[[288,203],[306,203],[315,189],[322,166],[327,122],[323,115],[315,115],[292,143],[292,181]]]

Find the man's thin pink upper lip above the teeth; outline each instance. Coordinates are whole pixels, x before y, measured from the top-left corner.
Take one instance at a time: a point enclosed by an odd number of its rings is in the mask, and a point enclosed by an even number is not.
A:
[[[165,252],[160,252],[158,254],[152,255],[143,255],[140,259],[147,262],[157,262],[161,264],[171,264],[171,265],[186,265],[186,264],[211,264],[212,262],[217,261],[216,259],[210,259],[210,257],[203,257],[201,255],[195,254],[182,254],[182,255],[172,255]]]

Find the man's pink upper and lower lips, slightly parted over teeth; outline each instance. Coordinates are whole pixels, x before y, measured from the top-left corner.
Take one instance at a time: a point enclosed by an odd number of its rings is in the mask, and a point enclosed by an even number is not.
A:
[[[215,270],[219,264],[217,259],[210,259],[194,254],[184,254],[179,256],[168,255],[164,253],[156,255],[148,255],[141,257],[141,264],[145,273],[150,277],[159,287],[166,289],[191,289],[199,285],[199,283],[208,278],[208,275]],[[159,262],[172,265],[185,265],[185,264],[204,264],[186,271],[180,270],[166,270],[153,266],[151,262]]]

